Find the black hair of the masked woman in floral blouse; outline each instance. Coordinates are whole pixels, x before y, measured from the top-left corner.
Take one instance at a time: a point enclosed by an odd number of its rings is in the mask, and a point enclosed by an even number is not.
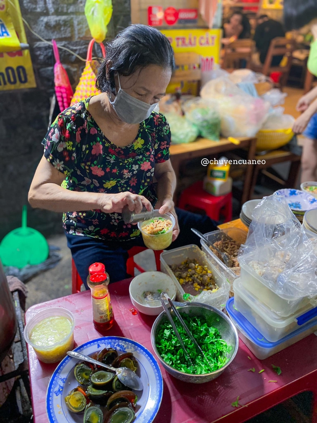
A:
[[[110,68],[107,72],[109,61]],[[115,72],[130,76],[151,64],[174,70],[174,52],[170,42],[155,28],[131,25],[107,43],[106,59],[98,69],[96,87],[101,92],[114,93]]]

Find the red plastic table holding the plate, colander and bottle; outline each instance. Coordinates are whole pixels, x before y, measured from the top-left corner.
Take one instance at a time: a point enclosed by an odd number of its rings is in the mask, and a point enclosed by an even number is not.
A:
[[[153,353],[150,333],[155,317],[131,313],[130,280],[109,287],[116,323],[108,334],[134,339]],[[34,305],[26,312],[26,321],[38,310],[55,306],[65,307],[74,314],[77,345],[102,336],[94,329],[90,292],[87,291]],[[282,374],[278,376],[271,364],[280,366]],[[55,365],[39,362],[30,348],[29,366],[34,421],[48,423],[46,391]],[[252,367],[255,372],[247,371]],[[262,369],[265,371],[259,374]],[[183,383],[163,367],[161,371],[163,400],[155,423],[211,423],[220,419],[221,423],[242,423],[303,391],[314,392],[312,422],[317,423],[317,336],[314,334],[264,361],[256,359],[240,341],[233,363],[217,379],[202,385]],[[231,403],[238,395],[241,406],[234,408]],[[242,407],[245,405],[247,407]]]

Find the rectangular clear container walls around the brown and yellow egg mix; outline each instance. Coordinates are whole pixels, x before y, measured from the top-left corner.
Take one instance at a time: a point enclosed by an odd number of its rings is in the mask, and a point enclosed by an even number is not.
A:
[[[161,271],[167,273],[176,285],[176,300],[184,302],[184,294],[186,293],[172,270],[169,268],[169,265],[181,264],[187,258],[190,260],[196,259],[200,265],[207,266],[207,268],[212,272],[213,280],[219,287],[215,292],[203,291],[197,296],[190,296],[188,301],[203,302],[218,309],[223,309],[225,306],[224,304],[229,298],[230,284],[227,282],[226,278],[220,274],[216,267],[211,264],[206,254],[194,244],[164,251],[160,255]]]

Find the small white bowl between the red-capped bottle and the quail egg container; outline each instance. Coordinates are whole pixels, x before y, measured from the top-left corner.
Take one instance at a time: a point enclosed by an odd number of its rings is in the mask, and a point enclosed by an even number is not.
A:
[[[163,311],[159,300],[147,301],[146,291],[154,293],[166,292],[172,301],[176,297],[176,286],[172,278],[162,272],[144,272],[132,279],[129,286],[130,299],[134,307],[141,313],[158,316]]]

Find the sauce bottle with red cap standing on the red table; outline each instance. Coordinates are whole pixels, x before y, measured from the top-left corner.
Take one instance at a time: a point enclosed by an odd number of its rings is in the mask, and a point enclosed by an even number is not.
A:
[[[109,275],[106,271],[102,273],[93,273],[88,277],[87,283],[91,290],[94,326],[98,332],[103,334],[110,329],[114,322],[110,294],[108,291]]]

